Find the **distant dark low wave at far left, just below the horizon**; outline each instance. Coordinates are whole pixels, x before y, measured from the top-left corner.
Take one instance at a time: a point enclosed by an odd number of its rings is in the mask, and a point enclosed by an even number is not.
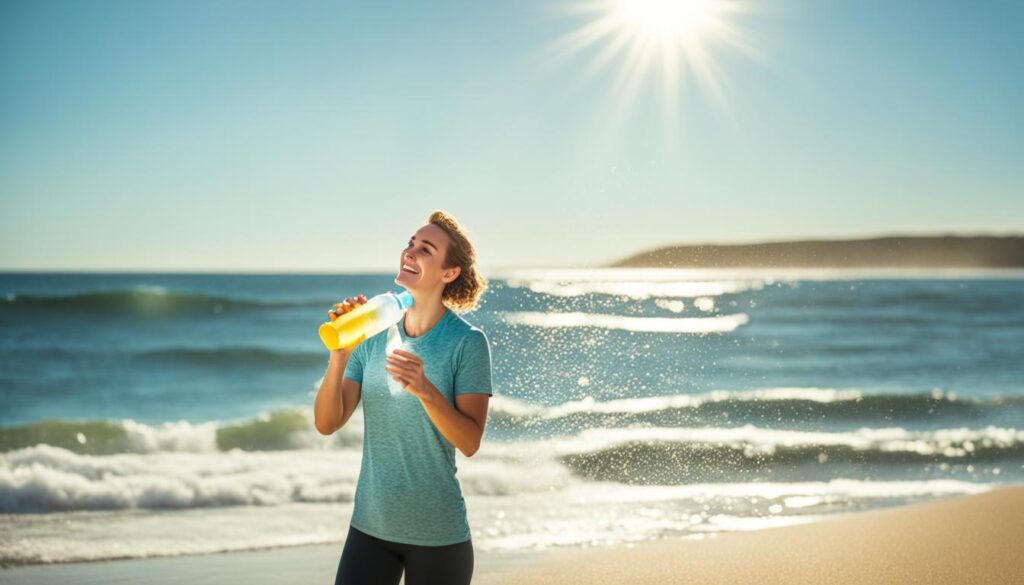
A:
[[[219,314],[231,309],[303,306],[301,302],[273,302],[223,296],[170,292],[161,287],[77,293],[72,295],[8,294],[0,307],[99,315]],[[330,304],[330,303],[329,303]]]

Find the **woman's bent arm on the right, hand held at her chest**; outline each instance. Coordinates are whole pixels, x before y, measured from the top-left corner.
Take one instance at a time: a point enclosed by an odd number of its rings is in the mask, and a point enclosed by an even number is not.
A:
[[[427,416],[449,443],[466,457],[472,457],[476,453],[487,421],[489,395],[460,394],[455,398],[453,407],[424,375],[423,361],[417,354],[402,349],[395,349],[388,354],[384,369],[408,392],[420,399]]]

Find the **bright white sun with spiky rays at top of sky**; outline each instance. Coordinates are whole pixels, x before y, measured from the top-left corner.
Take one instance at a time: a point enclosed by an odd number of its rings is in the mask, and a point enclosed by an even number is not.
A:
[[[746,0],[598,0],[565,6],[588,22],[554,43],[560,55],[594,51],[595,74],[621,60],[613,85],[629,108],[644,83],[660,86],[667,112],[678,111],[681,86],[692,79],[706,93],[724,101],[715,52],[736,49],[757,56],[737,17]]]

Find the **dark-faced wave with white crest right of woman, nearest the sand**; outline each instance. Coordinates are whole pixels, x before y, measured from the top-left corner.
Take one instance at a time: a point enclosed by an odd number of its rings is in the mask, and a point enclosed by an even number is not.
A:
[[[691,484],[842,476],[880,466],[1008,462],[1024,459],[1024,430],[987,426],[909,431],[861,428],[809,432],[733,428],[587,429],[552,445],[582,477],[625,484]]]

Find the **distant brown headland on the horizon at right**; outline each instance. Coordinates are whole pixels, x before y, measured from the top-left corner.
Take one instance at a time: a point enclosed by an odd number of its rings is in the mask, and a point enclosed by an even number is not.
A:
[[[1024,236],[891,236],[665,246],[613,267],[1024,267]]]

